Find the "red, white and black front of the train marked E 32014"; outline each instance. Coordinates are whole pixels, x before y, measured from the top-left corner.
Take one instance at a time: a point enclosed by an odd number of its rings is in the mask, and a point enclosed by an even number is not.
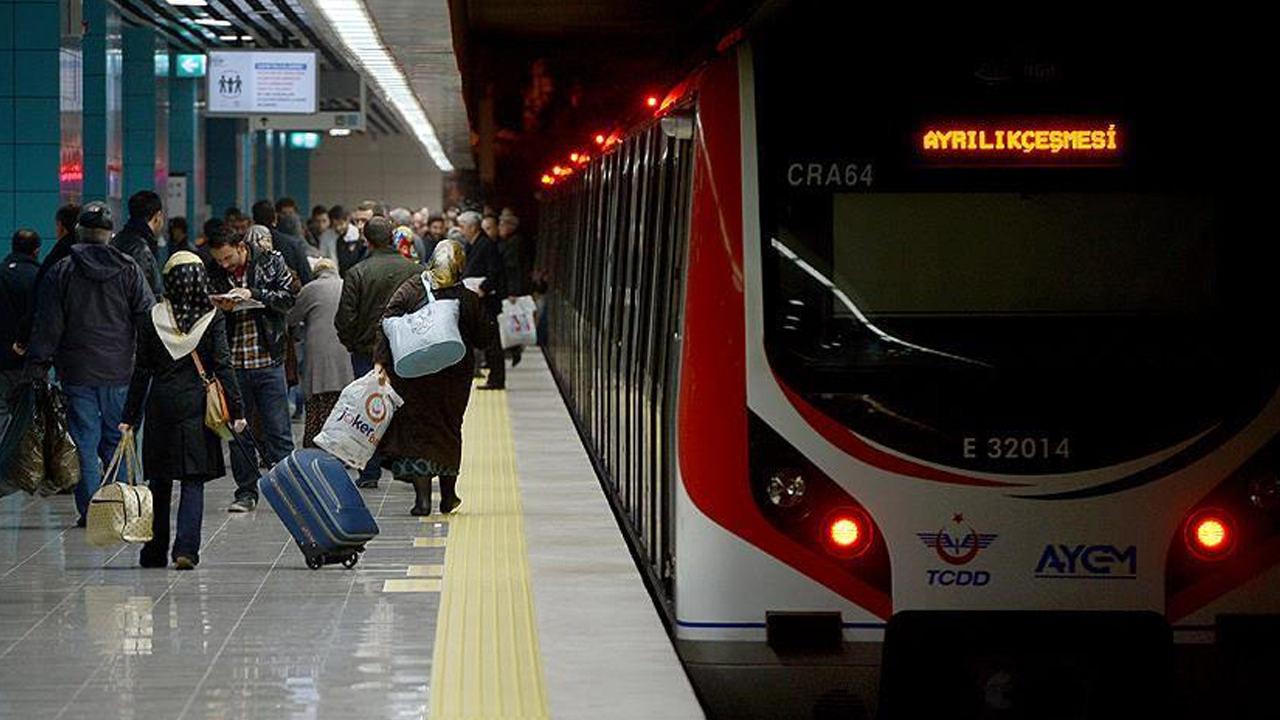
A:
[[[740,287],[751,510],[682,460],[681,637],[767,616],[781,662],[814,666],[828,630],[850,665],[883,642],[887,717],[1110,717],[1172,703],[1174,678],[1245,716],[1280,606],[1251,65],[1120,35],[847,33],[777,18],[700,99],[704,184],[724,187],[718,129],[742,154],[742,279],[701,277],[699,243],[736,224],[695,195],[684,388],[731,384],[694,333],[732,328],[704,305]],[[682,459],[707,450],[690,402]]]

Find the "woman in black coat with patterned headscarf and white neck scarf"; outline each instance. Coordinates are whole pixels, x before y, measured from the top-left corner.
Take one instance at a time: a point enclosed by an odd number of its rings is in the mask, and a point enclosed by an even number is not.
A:
[[[244,428],[241,393],[232,370],[227,322],[209,300],[209,274],[192,252],[175,252],[164,266],[164,297],[138,325],[133,382],[124,404],[122,430],[143,418],[142,471],[151,486],[155,525],[142,546],[143,568],[169,565],[169,507],[173,482],[182,483],[173,561],[178,570],[200,562],[200,527],[205,512],[204,484],[227,473],[221,439],[205,427],[206,377],[223,383],[233,427]],[[211,379],[211,378],[210,378]]]

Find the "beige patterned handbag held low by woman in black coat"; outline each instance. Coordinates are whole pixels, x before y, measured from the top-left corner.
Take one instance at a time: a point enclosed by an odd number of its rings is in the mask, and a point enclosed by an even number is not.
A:
[[[151,488],[140,486],[142,460],[133,430],[120,437],[102,478],[102,487],[88,501],[84,539],[97,547],[151,539],[154,510]]]

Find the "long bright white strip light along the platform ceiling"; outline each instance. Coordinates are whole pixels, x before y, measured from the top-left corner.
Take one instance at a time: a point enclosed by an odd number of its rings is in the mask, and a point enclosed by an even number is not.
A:
[[[442,172],[453,172],[453,163],[444,154],[435,128],[426,119],[426,111],[417,95],[408,86],[408,79],[399,65],[392,59],[374,28],[365,4],[361,0],[316,0],[320,13],[329,20],[338,41],[347,49],[347,55],[372,79],[387,102],[413,131],[413,136],[430,155]],[[333,131],[329,131],[330,135]]]

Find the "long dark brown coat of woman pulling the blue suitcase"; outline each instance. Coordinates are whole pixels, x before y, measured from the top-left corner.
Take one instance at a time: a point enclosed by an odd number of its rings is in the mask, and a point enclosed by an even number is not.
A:
[[[462,466],[462,415],[471,398],[471,380],[475,374],[476,347],[484,346],[486,318],[480,307],[480,297],[456,284],[431,291],[436,300],[457,300],[458,331],[467,352],[456,365],[421,378],[401,378],[393,369],[390,345],[378,325],[378,345],[374,360],[381,363],[390,375],[392,387],[404,400],[404,405],[392,416],[381,443],[378,446],[387,460],[416,457],[440,468]],[[407,315],[426,300],[421,274],[404,281],[387,304],[387,318]]]

